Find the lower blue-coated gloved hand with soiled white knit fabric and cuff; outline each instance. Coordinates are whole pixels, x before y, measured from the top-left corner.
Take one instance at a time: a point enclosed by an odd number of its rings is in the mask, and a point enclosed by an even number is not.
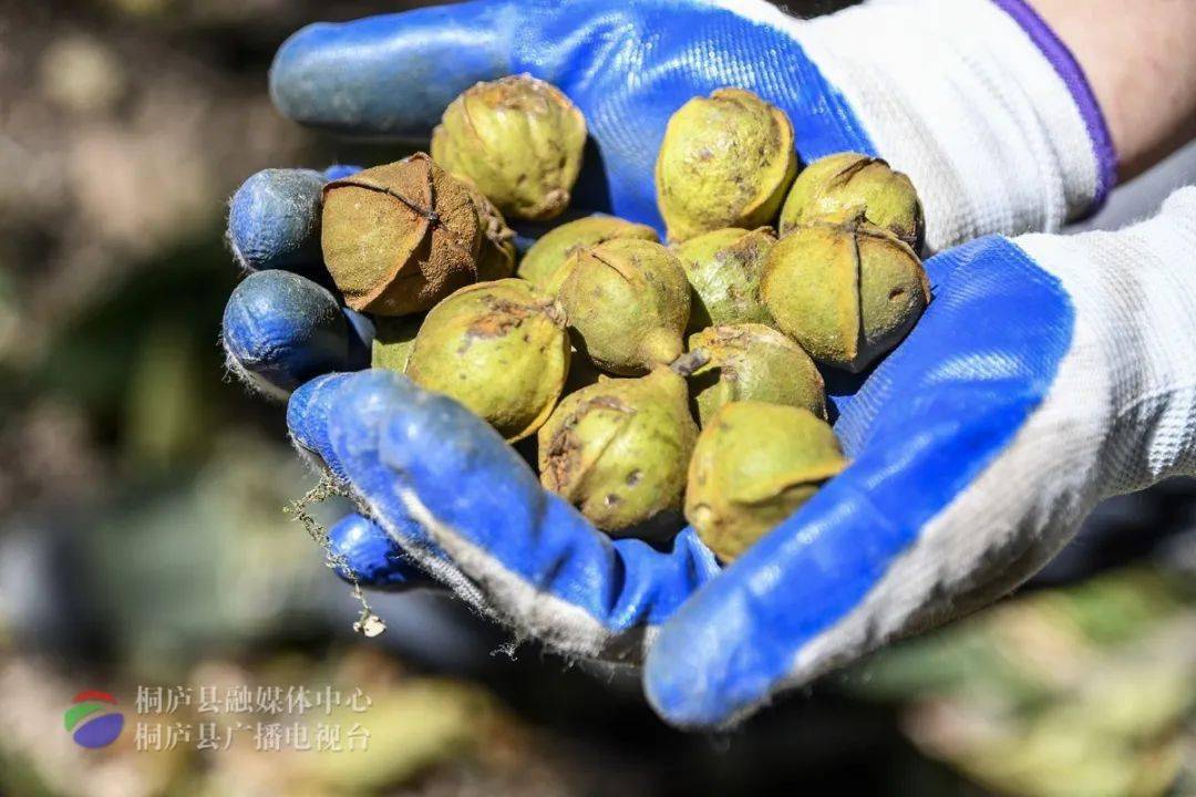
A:
[[[655,709],[716,727],[995,600],[1102,498],[1196,472],[1196,189],[1119,233],[984,238],[850,400],[852,465],[719,574],[691,529],[611,541],[454,401],[380,370],[291,399],[297,443],[415,560],[518,632],[647,650]]]

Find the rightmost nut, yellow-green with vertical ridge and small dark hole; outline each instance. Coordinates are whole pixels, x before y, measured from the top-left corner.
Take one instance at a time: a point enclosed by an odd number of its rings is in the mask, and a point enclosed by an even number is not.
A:
[[[908,244],[862,219],[799,227],[773,247],[761,295],[816,361],[859,373],[897,345],[930,301]]]

